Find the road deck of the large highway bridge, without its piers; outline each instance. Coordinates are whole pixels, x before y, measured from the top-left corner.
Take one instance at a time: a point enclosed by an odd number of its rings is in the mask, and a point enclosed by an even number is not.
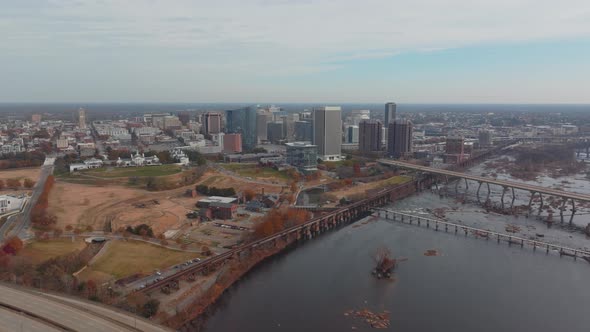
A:
[[[470,175],[470,174],[449,171],[449,170],[440,169],[440,168],[432,168],[432,167],[427,167],[427,166],[414,165],[414,164],[410,164],[410,163],[403,162],[403,161],[397,161],[397,160],[380,159],[379,163],[384,164],[384,165],[389,165],[389,166],[395,166],[395,167],[401,167],[401,168],[411,169],[411,170],[415,170],[415,171],[425,172],[425,173],[439,174],[439,175],[445,175],[448,177],[457,177],[457,178],[463,178],[463,179],[473,180],[473,181],[477,181],[477,182],[489,183],[489,184],[494,184],[494,185],[498,185],[501,187],[521,189],[521,190],[526,190],[526,191],[535,192],[535,193],[543,193],[543,194],[548,194],[551,196],[562,197],[564,199],[572,199],[572,200],[578,200],[578,201],[582,201],[582,202],[590,202],[590,195],[587,195],[587,194],[567,192],[567,191],[563,191],[563,190],[559,190],[559,189],[541,187],[541,186],[536,186],[536,185],[531,185],[531,184],[526,184],[526,183],[521,183],[521,182],[515,182],[515,181],[494,180],[494,179],[486,178],[486,177],[482,177],[482,176]]]

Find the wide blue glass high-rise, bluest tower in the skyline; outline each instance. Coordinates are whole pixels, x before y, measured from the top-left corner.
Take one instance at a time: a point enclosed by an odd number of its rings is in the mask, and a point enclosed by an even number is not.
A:
[[[242,134],[242,147],[250,150],[258,143],[256,130],[256,108],[244,107],[225,111],[227,133]]]

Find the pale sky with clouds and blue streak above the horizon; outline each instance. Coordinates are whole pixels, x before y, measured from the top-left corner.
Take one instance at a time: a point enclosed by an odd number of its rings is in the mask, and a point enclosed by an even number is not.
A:
[[[590,103],[590,1],[1,0],[0,102]]]

